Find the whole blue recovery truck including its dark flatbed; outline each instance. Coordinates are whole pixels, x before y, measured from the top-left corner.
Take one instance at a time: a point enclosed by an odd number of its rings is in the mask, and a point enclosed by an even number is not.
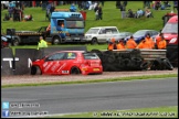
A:
[[[50,31],[48,31],[49,26]],[[51,44],[86,42],[84,39],[85,21],[81,12],[53,12],[49,26],[41,26],[38,31],[7,29],[6,37],[12,45],[38,44],[40,35]]]

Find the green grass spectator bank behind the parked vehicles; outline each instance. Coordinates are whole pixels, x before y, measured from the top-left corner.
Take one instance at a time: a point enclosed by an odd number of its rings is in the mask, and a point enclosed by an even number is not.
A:
[[[172,8],[172,1],[170,1]],[[69,6],[57,6],[57,9],[69,9]],[[131,9],[137,11],[138,9],[144,9],[143,1],[128,1],[126,10]],[[80,11],[80,10],[78,10]],[[120,32],[129,31],[136,32],[140,29],[154,29],[159,31],[162,29],[161,17],[171,10],[152,10],[154,18],[140,18],[140,19],[122,19],[120,10],[116,9],[116,1],[105,1],[103,7],[103,20],[95,21],[94,10],[86,11],[86,28],[85,32],[92,26],[107,26],[115,25],[119,29]],[[35,31],[40,26],[49,25],[49,21],[45,20],[45,10],[42,8],[25,8],[24,14],[32,14],[34,21],[27,22],[13,22],[13,21],[3,21],[4,14],[8,13],[8,10],[1,11],[1,29],[6,32],[7,29],[13,28],[17,30],[30,30]]]

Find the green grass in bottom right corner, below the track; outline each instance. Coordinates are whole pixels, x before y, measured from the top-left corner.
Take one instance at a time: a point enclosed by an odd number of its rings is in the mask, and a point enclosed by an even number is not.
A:
[[[178,106],[138,108],[128,110],[105,110],[46,118],[178,118]]]

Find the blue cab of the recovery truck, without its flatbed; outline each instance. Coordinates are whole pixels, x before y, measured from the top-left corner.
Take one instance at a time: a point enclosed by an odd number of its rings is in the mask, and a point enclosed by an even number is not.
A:
[[[45,41],[52,44],[85,42],[84,28],[81,12],[53,12]]]

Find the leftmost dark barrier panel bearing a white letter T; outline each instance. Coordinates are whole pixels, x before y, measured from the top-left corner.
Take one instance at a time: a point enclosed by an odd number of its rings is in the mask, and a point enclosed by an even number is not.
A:
[[[15,58],[17,60],[17,58]],[[13,75],[13,54],[11,48],[1,48],[1,76]]]

